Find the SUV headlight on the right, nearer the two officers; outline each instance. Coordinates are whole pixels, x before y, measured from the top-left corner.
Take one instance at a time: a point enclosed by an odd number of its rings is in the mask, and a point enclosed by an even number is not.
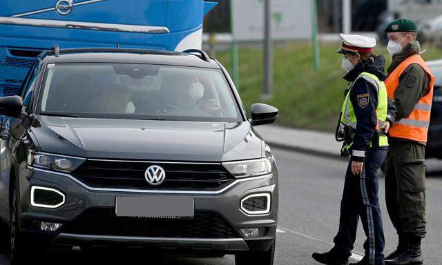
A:
[[[224,162],[226,168],[233,177],[255,177],[271,173],[271,159],[262,158],[254,160]]]

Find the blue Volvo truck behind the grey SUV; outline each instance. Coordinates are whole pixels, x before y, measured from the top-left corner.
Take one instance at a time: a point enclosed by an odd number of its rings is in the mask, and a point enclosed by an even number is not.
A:
[[[0,97],[17,95],[34,58],[60,48],[201,48],[204,0],[7,0],[0,8]]]

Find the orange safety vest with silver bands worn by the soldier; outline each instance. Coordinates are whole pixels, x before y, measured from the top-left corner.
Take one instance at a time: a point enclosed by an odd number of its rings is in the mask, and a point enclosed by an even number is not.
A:
[[[399,77],[401,77],[405,68],[412,63],[419,63],[419,66],[427,72],[427,75],[431,79],[430,91],[427,95],[419,99],[411,114],[396,121],[388,133],[391,137],[422,141],[426,143],[428,126],[430,125],[431,106],[433,102],[434,76],[425,61],[423,61],[421,55],[410,56],[399,64],[396,69],[388,75],[387,80],[385,80],[385,86],[387,86],[388,97],[394,99],[394,92],[396,92],[396,88],[398,87]]]

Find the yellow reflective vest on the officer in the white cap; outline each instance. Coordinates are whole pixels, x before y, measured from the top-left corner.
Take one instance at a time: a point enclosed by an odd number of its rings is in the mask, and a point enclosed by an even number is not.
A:
[[[385,84],[383,81],[379,80],[376,75],[369,74],[368,72],[362,72],[361,75],[354,80],[353,84],[355,84],[360,78],[365,79],[365,81],[369,82],[376,88],[378,95],[378,106],[376,108],[378,122],[376,124],[376,130],[385,128],[385,121],[387,120],[387,88],[385,87]],[[347,95],[345,96],[340,122],[346,126],[356,129],[356,115],[354,114],[352,101],[349,98],[351,90],[352,88],[350,88],[349,92],[347,92]],[[340,132],[344,133],[342,124],[340,125]],[[388,146],[388,140],[385,135],[379,137],[379,146]]]

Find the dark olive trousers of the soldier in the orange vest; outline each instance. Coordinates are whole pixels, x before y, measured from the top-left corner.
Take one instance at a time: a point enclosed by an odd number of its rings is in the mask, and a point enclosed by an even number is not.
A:
[[[385,199],[399,236],[425,237],[425,146],[406,141],[390,144]]]

